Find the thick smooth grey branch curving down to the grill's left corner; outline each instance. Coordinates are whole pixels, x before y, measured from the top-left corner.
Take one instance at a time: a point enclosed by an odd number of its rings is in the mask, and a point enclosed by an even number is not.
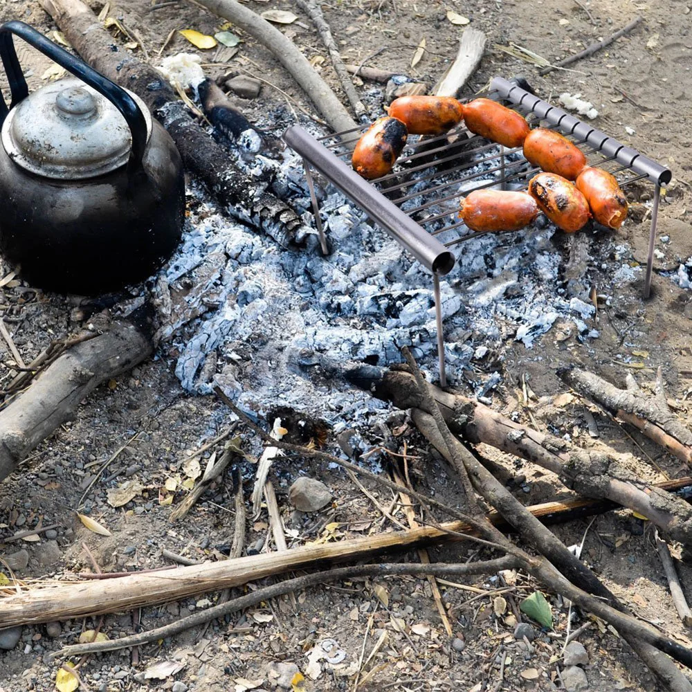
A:
[[[45,0],[44,0],[45,1]],[[219,17],[223,17],[241,28],[265,48],[286,68],[307,93],[313,104],[322,113],[334,131],[356,129],[357,123],[349,116],[343,104],[336,98],[327,82],[315,71],[307,58],[277,28],[271,26],[260,15],[241,5],[236,0],[194,0],[195,4],[206,7]]]

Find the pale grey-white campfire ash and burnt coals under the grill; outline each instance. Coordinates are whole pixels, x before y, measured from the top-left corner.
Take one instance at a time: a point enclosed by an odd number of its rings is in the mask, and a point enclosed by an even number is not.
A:
[[[265,179],[271,169],[273,189],[289,195],[305,224],[313,225],[300,157],[286,149],[278,161],[258,156],[238,163]],[[425,183],[415,192],[421,195],[411,205],[430,201]],[[176,375],[185,390],[208,394],[219,384],[245,408],[314,409],[332,424],[345,424],[385,410],[335,377],[349,365],[397,363],[401,347],[410,345],[438,376],[430,274],[340,192],[321,193],[332,248],[327,257],[316,243],[304,250],[277,246],[229,221],[193,188],[188,232],[160,282],[174,295],[189,291],[167,330],[176,332]],[[639,277],[628,246],[604,232],[588,233],[593,256],[584,267],[598,271],[601,293],[610,292],[605,277],[610,289]],[[528,358],[540,359],[534,346],[557,320],[572,322],[582,343],[599,337],[588,291],[566,288],[561,275],[575,238],[539,217],[525,232],[452,246],[457,264],[441,280],[451,383],[464,380],[477,396],[491,394],[500,372],[480,375],[473,364],[482,363],[489,349],[502,354],[513,340],[526,347]],[[581,286],[589,285],[583,276]]]

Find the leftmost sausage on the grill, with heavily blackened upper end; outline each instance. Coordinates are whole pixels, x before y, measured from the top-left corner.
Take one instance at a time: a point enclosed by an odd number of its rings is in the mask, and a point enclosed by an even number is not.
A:
[[[407,137],[406,125],[401,120],[375,120],[356,143],[351,157],[354,171],[366,180],[388,174],[401,154]]]

